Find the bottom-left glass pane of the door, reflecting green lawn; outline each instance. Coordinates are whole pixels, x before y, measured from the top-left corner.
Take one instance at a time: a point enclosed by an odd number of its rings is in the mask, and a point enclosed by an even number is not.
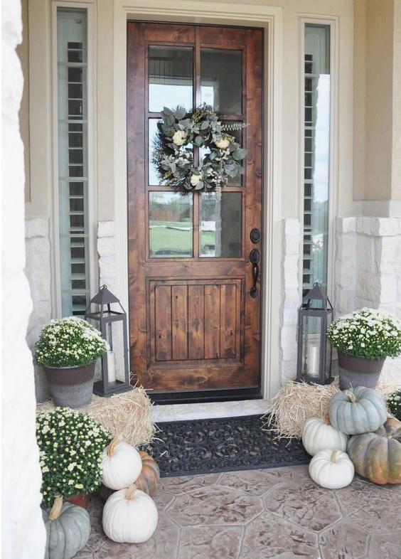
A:
[[[149,192],[149,256],[193,256],[193,196]]]

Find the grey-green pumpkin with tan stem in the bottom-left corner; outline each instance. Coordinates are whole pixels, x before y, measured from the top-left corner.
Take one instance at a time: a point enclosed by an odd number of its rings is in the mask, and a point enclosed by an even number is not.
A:
[[[82,506],[63,503],[62,497],[56,497],[50,513],[42,513],[46,527],[45,559],[71,559],[85,547],[90,518]]]

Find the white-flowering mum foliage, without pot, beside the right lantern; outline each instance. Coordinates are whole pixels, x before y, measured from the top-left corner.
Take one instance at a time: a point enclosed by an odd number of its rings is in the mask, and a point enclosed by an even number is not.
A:
[[[401,353],[400,321],[375,309],[340,316],[328,326],[327,337],[335,348],[351,356],[383,359]]]

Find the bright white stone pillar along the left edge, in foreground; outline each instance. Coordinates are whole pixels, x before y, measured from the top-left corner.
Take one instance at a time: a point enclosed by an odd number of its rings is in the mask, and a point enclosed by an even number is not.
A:
[[[23,273],[24,186],[23,144],[18,110],[23,77],[16,46],[21,43],[21,3],[1,6],[2,47],[2,352],[1,415],[2,543],[4,559],[42,559],[46,531],[41,513],[41,468],[36,444],[36,407],[32,356],[26,330],[32,310]]]

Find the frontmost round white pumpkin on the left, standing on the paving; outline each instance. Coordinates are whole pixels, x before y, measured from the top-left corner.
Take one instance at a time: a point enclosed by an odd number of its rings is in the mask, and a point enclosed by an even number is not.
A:
[[[142,543],[156,530],[158,513],[154,501],[133,484],[109,496],[103,509],[103,530],[110,540]]]

